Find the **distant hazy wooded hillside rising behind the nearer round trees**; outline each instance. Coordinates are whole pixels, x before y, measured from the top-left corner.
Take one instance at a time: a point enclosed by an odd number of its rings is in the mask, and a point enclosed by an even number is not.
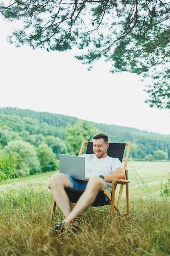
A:
[[[47,136],[59,138],[64,144],[68,137],[66,126],[74,126],[76,117],[37,112],[18,108],[0,108],[0,144],[1,148],[9,141],[22,139],[37,147],[46,143]],[[83,121],[83,120],[82,120]],[[92,122],[83,121],[87,124]],[[108,135],[110,142],[131,141],[130,157],[144,159],[147,155],[154,156],[154,152],[161,150],[168,154],[170,159],[170,135],[160,135],[146,130],[129,128],[117,125],[92,123],[100,132]],[[48,143],[47,143],[48,144]]]

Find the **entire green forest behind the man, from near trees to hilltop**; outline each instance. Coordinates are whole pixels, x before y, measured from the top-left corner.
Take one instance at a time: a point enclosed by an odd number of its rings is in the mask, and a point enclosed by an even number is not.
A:
[[[82,140],[91,141],[97,132],[106,133],[110,142],[130,140],[131,161],[170,159],[170,135],[49,112],[0,108],[0,182],[57,170],[60,153],[78,155]]]

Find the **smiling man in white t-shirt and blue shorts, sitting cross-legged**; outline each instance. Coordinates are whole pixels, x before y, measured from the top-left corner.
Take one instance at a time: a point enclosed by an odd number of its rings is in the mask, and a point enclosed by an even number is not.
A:
[[[93,136],[94,154],[82,155],[85,157],[85,181],[73,180],[63,173],[55,173],[51,176],[49,187],[65,217],[62,223],[54,227],[54,230],[64,231],[70,223],[73,231],[78,231],[76,219],[94,202],[97,193],[104,191],[105,188],[111,191],[113,179],[125,178],[125,171],[119,159],[107,155],[108,147],[107,135],[98,133]],[[65,188],[85,189],[73,210],[71,210]]]

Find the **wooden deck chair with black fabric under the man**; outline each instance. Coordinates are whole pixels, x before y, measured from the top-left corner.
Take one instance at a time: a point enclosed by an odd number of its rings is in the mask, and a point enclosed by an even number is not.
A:
[[[82,155],[85,145],[87,145],[86,153],[87,154],[93,154],[93,142],[89,142],[89,141],[86,141],[86,139],[84,139],[83,143],[82,143],[82,146],[80,148],[80,151],[79,151],[79,155]],[[117,211],[121,215],[126,215],[126,216],[130,215],[129,188],[128,188],[128,184],[129,184],[130,181],[128,180],[128,170],[127,170],[128,156],[129,156],[129,151],[130,151],[130,141],[128,141],[128,143],[109,143],[109,147],[107,149],[107,155],[110,156],[110,157],[118,157],[119,160],[122,162],[125,147],[127,148],[126,156],[125,156],[125,160],[124,160],[125,180],[122,180],[122,179],[113,180],[112,181],[113,185],[112,185],[111,195],[110,195],[110,193],[108,192],[107,189],[105,189],[104,191],[100,191],[97,194],[97,197],[95,198],[95,201],[91,205],[93,207],[98,207],[98,206],[104,206],[106,204],[110,204],[110,211],[107,211],[107,212],[110,212],[112,215],[115,213],[115,211]],[[117,199],[117,202],[116,202],[115,201],[115,190],[116,190],[116,187],[117,187],[118,184],[120,185],[120,188],[119,188],[118,199]],[[121,198],[122,198],[123,186],[124,185],[126,186],[126,212],[125,213],[122,212],[121,209],[120,209],[120,203],[121,203]],[[68,198],[69,198],[70,202],[73,203],[73,204],[75,204],[77,202],[79,197],[84,192],[84,189],[67,188],[65,190],[66,190],[66,193],[68,195]],[[105,200],[105,195],[108,198],[107,203],[106,203],[106,200]],[[55,206],[56,206],[56,202],[53,198],[53,204],[52,204],[51,215],[50,215],[51,220],[53,220],[53,218],[54,218]]]

